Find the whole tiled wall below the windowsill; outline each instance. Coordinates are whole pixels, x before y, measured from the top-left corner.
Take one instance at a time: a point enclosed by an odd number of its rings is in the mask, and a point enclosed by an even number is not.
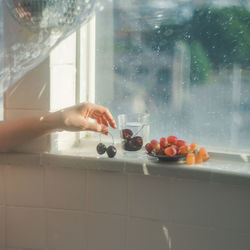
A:
[[[2,249],[250,249],[247,182],[92,171],[39,159],[20,155],[0,166]]]

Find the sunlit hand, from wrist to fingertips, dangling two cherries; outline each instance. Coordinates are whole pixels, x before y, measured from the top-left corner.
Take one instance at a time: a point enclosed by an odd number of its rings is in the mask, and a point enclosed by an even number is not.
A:
[[[117,128],[110,111],[100,105],[83,102],[51,114],[57,129],[67,131],[95,131],[108,134],[108,128]],[[91,118],[94,121],[89,121]]]

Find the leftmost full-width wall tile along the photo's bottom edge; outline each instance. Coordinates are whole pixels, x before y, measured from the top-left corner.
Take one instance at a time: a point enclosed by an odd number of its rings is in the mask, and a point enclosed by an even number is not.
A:
[[[44,249],[45,214],[42,209],[6,208],[6,247]]]

